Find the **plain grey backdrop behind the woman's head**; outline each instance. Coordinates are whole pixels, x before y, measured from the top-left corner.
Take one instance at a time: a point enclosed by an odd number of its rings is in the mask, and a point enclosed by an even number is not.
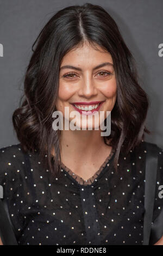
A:
[[[86,2],[102,5],[120,28],[136,59],[141,86],[151,100],[146,124],[153,133],[145,141],[163,148],[163,57],[158,55],[158,46],[163,43],[162,0],[0,0],[0,43],[4,47],[0,57],[0,148],[19,143],[11,117],[22,95],[36,36],[56,11]]]

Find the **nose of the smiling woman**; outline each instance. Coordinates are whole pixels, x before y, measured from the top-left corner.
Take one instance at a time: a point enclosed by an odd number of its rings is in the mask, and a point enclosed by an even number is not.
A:
[[[97,95],[97,93],[96,84],[95,81],[93,81],[91,74],[83,76],[83,80],[81,81],[80,88],[78,90],[78,95],[90,98]]]

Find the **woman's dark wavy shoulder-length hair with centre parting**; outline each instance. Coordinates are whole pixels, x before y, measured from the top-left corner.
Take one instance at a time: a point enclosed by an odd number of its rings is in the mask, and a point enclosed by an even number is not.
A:
[[[84,42],[101,46],[114,62],[117,99],[111,111],[111,133],[104,143],[129,153],[143,140],[148,96],[140,87],[135,60],[112,17],[99,5],[85,3],[64,8],[47,22],[32,46],[24,77],[24,95],[12,121],[24,151],[38,151],[45,168],[60,172],[60,131],[52,128],[59,92],[59,72],[65,54]],[[36,44],[37,43],[37,44]],[[36,44],[35,50],[34,46]],[[23,102],[22,102],[23,100]],[[55,157],[51,154],[55,150]],[[47,157],[45,157],[47,156]]]

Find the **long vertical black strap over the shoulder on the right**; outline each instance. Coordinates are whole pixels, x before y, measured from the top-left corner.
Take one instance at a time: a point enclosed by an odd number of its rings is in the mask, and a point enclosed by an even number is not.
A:
[[[147,143],[146,172],[145,172],[145,215],[143,223],[143,245],[149,245],[151,223],[154,209],[158,152],[154,144]]]

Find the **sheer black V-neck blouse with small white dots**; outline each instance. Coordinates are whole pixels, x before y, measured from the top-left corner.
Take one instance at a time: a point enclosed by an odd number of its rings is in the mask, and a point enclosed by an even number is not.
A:
[[[89,185],[84,180],[79,184],[64,168],[54,178],[43,169],[37,151],[23,154],[21,144],[2,148],[0,185],[18,244],[142,245],[147,144],[121,153],[117,173],[112,155]],[[158,227],[163,153],[155,144],[151,147],[158,155],[150,237],[156,242],[163,235]]]

